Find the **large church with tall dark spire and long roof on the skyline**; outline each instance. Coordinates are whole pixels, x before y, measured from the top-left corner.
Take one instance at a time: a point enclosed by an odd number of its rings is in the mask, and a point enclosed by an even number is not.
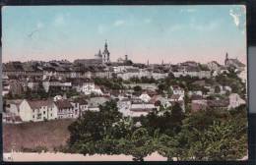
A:
[[[93,59],[78,59],[74,61],[75,64],[82,64],[84,66],[97,66],[110,63],[110,52],[107,49],[107,43],[105,41],[104,50],[101,53],[100,49],[96,53]]]

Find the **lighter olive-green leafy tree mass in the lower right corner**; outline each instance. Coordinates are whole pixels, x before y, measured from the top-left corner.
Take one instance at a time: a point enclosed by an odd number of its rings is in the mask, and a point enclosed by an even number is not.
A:
[[[246,110],[199,111],[185,120],[177,135],[180,160],[237,160],[246,155]]]

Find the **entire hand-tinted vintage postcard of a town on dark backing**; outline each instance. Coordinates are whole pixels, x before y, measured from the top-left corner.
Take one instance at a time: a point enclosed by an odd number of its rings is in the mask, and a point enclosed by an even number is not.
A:
[[[2,8],[4,161],[248,159],[246,7]]]

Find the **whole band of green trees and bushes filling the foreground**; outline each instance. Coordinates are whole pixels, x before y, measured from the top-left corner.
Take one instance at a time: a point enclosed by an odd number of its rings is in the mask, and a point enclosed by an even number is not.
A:
[[[69,127],[70,152],[126,154],[135,161],[155,151],[168,160],[235,160],[247,152],[245,106],[185,115],[176,103],[133,119],[122,117],[114,101],[99,109],[85,112]]]

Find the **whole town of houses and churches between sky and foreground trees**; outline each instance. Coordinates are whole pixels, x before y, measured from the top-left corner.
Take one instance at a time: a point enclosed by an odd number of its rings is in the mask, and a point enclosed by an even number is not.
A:
[[[98,111],[109,100],[116,102],[123,116],[132,118],[176,103],[184,113],[246,104],[246,66],[228,53],[224,53],[223,64],[140,64],[128,55],[110,61],[107,46],[105,42],[95,58],[74,62],[4,63],[3,122],[78,118],[85,111]],[[224,81],[227,75],[237,78],[238,83]]]

